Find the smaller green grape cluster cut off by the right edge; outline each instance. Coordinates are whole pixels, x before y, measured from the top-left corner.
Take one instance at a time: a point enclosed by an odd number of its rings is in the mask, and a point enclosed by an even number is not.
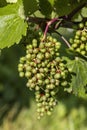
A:
[[[87,22],[80,23],[74,39],[70,39],[71,48],[83,56],[87,56]]]

